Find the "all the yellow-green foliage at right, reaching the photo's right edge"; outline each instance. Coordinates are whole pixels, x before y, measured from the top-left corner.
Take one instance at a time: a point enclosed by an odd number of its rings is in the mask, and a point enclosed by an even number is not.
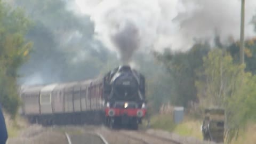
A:
[[[256,104],[255,76],[246,73],[245,65],[234,63],[231,55],[220,49],[204,57],[203,70],[198,71],[198,76],[195,85],[200,104],[225,108],[226,136],[230,142],[255,117],[252,112]]]

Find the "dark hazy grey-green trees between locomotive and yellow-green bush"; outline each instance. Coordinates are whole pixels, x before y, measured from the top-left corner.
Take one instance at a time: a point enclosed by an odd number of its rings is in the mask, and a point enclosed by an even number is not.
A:
[[[209,51],[209,44],[198,43],[187,52],[171,52],[166,50],[163,54],[155,53],[155,57],[166,67],[172,77],[171,85],[174,94],[170,95],[173,105],[187,106],[190,101],[197,101],[197,90],[194,85],[197,78],[196,70],[203,65],[203,57]]]

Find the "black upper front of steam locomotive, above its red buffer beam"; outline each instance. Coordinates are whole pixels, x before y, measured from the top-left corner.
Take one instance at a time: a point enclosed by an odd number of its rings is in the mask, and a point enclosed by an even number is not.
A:
[[[121,65],[105,75],[108,101],[144,101],[145,78],[129,65]]]

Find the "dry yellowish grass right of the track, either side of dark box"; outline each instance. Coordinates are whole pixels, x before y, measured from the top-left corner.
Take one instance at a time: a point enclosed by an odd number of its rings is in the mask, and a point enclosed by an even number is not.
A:
[[[162,129],[169,132],[177,133],[182,136],[195,137],[202,140],[202,133],[200,130],[201,123],[198,120],[185,118],[185,120],[176,125],[173,123],[172,116],[170,115],[155,115],[151,118],[152,129]],[[254,144],[256,142],[256,124],[248,124],[249,126],[245,131],[242,131],[238,139],[231,144]]]

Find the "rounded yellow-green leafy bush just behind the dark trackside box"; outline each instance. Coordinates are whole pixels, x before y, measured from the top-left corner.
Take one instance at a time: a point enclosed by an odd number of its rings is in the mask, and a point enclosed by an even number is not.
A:
[[[228,98],[233,97],[242,89],[244,66],[233,63],[231,55],[215,49],[204,58],[203,71],[196,82],[198,98],[205,106],[223,107]]]

